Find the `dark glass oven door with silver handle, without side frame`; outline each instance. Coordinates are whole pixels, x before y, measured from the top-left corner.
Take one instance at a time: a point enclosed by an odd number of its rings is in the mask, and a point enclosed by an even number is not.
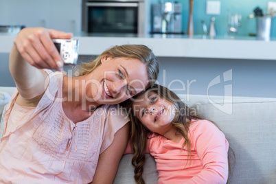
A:
[[[137,2],[87,2],[84,30],[89,33],[138,33]]]

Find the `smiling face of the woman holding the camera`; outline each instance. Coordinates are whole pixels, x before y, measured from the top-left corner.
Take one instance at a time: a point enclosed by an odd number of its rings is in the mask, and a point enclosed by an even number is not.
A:
[[[95,79],[91,82],[91,97],[97,104],[119,104],[148,85],[148,72],[140,60],[105,56],[101,61],[102,65],[89,76]]]

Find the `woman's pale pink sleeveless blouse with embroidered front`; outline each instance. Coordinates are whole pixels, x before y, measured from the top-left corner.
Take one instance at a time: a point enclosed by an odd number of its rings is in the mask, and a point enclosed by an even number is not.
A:
[[[74,124],[62,109],[62,74],[45,71],[51,79],[38,105],[15,104],[15,91],[5,112],[0,183],[89,183],[99,155],[129,121],[117,106],[103,105]]]

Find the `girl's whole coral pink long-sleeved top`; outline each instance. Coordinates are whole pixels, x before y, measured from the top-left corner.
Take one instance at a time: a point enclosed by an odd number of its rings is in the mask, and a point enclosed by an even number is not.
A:
[[[207,120],[192,120],[189,132],[191,161],[187,146],[181,151],[184,138],[179,143],[160,135],[150,139],[150,154],[159,171],[158,183],[226,183],[229,144],[225,135]]]

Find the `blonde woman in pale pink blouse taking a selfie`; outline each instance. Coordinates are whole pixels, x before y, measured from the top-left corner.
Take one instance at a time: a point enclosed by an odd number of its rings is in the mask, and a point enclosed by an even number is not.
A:
[[[17,90],[5,112],[0,182],[112,183],[115,177],[128,118],[111,105],[154,82],[158,62],[144,45],[122,45],[80,67],[76,78],[51,72],[62,68],[51,39],[71,37],[38,27],[14,39],[10,72]]]

